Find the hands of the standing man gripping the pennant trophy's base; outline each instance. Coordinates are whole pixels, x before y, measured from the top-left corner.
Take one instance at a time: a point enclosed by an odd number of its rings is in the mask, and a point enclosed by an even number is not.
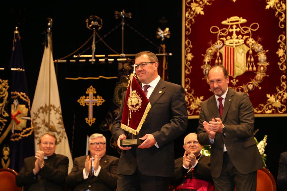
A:
[[[125,139],[127,139],[127,137],[124,134],[120,135],[118,138],[117,145],[118,145],[119,149],[121,149],[121,150],[131,149],[131,147],[121,147],[120,141],[125,140]],[[154,135],[152,135],[152,134],[146,134],[145,136],[143,136],[139,139],[145,140],[143,143],[141,143],[139,146],[137,146],[139,149],[147,149],[147,148],[150,148],[156,144],[156,139],[154,138]]]

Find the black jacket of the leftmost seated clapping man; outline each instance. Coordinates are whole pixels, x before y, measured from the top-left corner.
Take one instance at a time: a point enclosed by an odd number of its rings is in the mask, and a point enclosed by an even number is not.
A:
[[[24,190],[64,190],[69,166],[68,157],[54,153],[44,160],[44,167],[36,176],[33,173],[35,161],[35,157],[24,159],[24,165],[16,176],[17,186],[24,186]]]

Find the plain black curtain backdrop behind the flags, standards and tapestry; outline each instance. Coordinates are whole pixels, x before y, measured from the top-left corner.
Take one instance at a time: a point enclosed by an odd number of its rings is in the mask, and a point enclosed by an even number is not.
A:
[[[104,36],[121,22],[120,19],[115,19],[114,11],[122,11],[124,9],[126,12],[133,13],[133,18],[126,19],[126,22],[158,46],[160,46],[160,39],[156,38],[157,28],[170,28],[171,37],[165,41],[166,51],[173,54],[168,60],[168,77],[170,82],[181,84],[181,4],[182,2],[179,0],[81,1],[78,3],[13,2],[11,4],[1,2],[2,61],[0,62],[0,67],[7,67],[9,64],[13,31],[15,30],[15,26],[18,26],[28,91],[32,101],[43,56],[44,47],[42,42],[44,36],[42,32],[46,30],[46,18],[53,18],[53,56],[54,59],[58,59],[79,48],[92,35],[92,31],[86,28],[85,23],[90,15],[97,15],[103,20],[103,27],[98,33],[100,36]],[[164,27],[159,22],[162,17],[165,17],[167,21]],[[136,34],[128,26],[125,26],[124,37],[125,54],[135,54],[146,50],[158,52],[158,48]],[[98,37],[96,37],[96,40],[98,40]],[[114,50],[121,53],[121,27],[118,27],[104,40]],[[89,42],[88,46],[90,45],[91,43]],[[91,54],[91,50],[88,50],[86,53]],[[113,52],[103,43],[98,43],[96,45],[96,54],[113,54]],[[65,110],[67,105],[62,101],[65,98],[60,97],[60,99],[62,109]],[[71,143],[73,128],[71,124],[73,124],[73,119],[66,118],[65,114],[63,114],[64,121],[69,121],[69,123],[65,123],[64,125],[69,142]],[[286,122],[287,117],[255,119],[255,129],[259,129],[259,132],[256,133],[257,139],[262,140],[264,135],[268,135],[267,146],[265,148],[267,167],[275,178],[278,173],[280,153],[287,151]],[[185,134],[175,140],[175,158],[181,157],[184,153],[182,146],[184,136],[190,132],[196,132],[197,126],[198,119],[190,119],[188,121],[188,129]],[[104,135],[107,137],[107,140],[111,137],[109,131],[105,131]],[[76,147],[83,147],[83,150],[85,150],[86,139],[75,139],[73,141],[74,147],[76,145]],[[107,150],[107,153],[119,156],[119,153],[114,150]]]

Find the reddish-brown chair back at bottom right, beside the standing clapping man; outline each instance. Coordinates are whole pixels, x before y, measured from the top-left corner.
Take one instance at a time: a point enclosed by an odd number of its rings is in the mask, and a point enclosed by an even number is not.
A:
[[[256,191],[276,191],[276,181],[266,168],[257,170]]]

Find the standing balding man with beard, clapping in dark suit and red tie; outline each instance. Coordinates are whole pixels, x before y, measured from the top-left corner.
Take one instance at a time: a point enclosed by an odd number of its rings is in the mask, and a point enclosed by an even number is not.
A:
[[[256,190],[257,170],[264,167],[253,137],[254,111],[247,94],[228,88],[222,65],[208,73],[212,97],[199,114],[198,141],[211,144],[211,173],[216,190]]]

